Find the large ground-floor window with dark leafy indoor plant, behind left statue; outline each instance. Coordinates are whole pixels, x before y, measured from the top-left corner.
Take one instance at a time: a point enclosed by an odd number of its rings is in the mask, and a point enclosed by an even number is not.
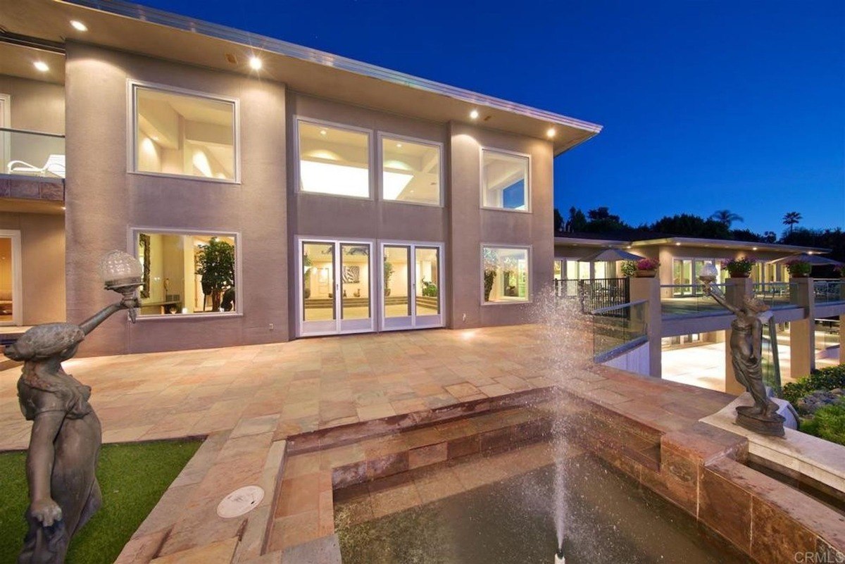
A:
[[[238,312],[237,237],[136,231],[142,316]]]

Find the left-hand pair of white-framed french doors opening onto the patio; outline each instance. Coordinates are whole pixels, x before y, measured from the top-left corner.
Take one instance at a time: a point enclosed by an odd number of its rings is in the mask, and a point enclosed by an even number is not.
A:
[[[297,240],[297,335],[373,331],[373,242]]]

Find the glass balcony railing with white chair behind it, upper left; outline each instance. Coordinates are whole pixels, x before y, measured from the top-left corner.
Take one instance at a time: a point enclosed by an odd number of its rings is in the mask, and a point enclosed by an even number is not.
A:
[[[64,136],[0,127],[0,173],[64,178]]]

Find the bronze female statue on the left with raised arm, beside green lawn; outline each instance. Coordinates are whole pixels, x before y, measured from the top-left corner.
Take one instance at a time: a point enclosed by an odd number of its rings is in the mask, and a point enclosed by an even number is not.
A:
[[[112,313],[131,312],[137,306],[128,296],[79,325],[38,325],[3,351],[11,360],[24,362],[18,399],[25,418],[33,422],[26,458],[29,530],[19,564],[61,564],[71,537],[101,507],[95,475],[100,420],[88,403],[91,388],[65,372],[62,362],[73,357],[85,335]]]

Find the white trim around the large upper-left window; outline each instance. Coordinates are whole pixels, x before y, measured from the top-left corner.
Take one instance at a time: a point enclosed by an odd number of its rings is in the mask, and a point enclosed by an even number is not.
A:
[[[233,120],[232,120],[232,127],[234,127],[235,131],[232,135],[232,139],[235,143],[235,174],[234,179],[229,178],[208,178],[206,176],[194,176],[189,174],[174,174],[172,172],[150,172],[150,171],[139,171],[138,170],[138,163],[136,157],[138,155],[138,150],[136,144],[138,143],[138,135],[137,135],[137,127],[138,127],[138,114],[135,110],[137,104],[137,89],[144,88],[144,89],[152,89],[152,90],[159,90],[161,92],[169,92],[172,94],[179,94],[179,95],[188,95],[194,96],[197,98],[204,98],[205,100],[214,100],[218,102],[229,102],[232,103],[232,113],[233,113]],[[237,98],[232,98],[229,96],[224,95],[215,95],[210,94],[207,92],[199,92],[198,90],[190,90],[184,88],[178,88],[177,86],[170,86],[168,84],[157,84],[152,82],[144,82],[140,80],[128,79],[126,81],[126,91],[127,91],[127,127],[126,127],[126,134],[127,134],[127,160],[126,160],[126,171],[128,174],[140,175],[140,176],[159,176],[163,178],[180,178],[183,180],[194,180],[199,182],[212,182],[215,184],[240,184],[241,183],[241,102]]]

